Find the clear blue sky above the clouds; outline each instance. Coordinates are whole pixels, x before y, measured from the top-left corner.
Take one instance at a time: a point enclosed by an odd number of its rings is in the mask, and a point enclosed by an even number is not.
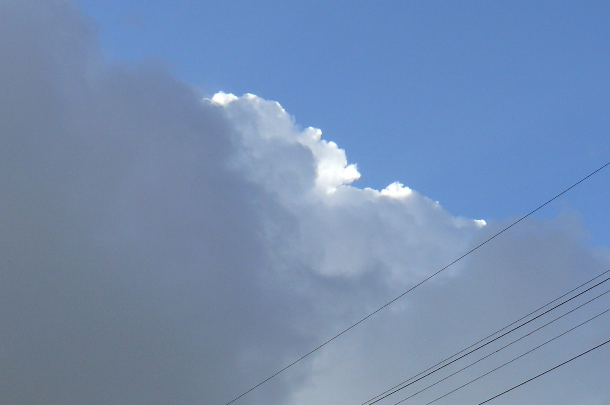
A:
[[[254,93],[454,215],[520,215],[610,157],[607,2],[79,1],[110,60]],[[541,213],[608,245],[610,173]]]

